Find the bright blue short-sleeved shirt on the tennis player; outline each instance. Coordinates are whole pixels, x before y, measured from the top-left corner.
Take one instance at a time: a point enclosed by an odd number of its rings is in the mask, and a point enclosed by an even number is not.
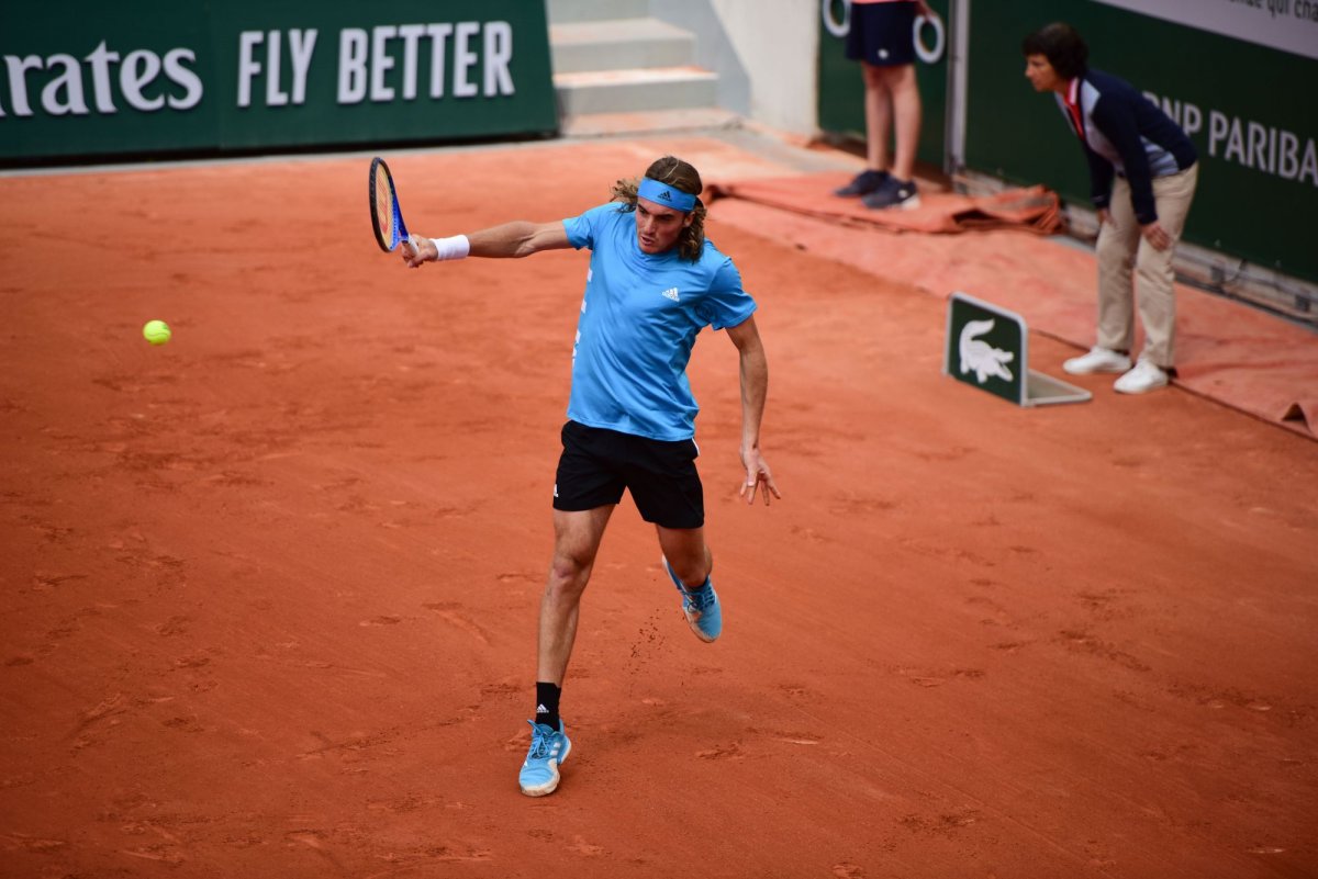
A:
[[[568,241],[590,249],[572,351],[568,417],[651,440],[691,440],[700,407],[687,362],[705,326],[737,326],[755,311],[733,261],[709,241],[700,259],[647,254],[634,212],[618,203],[563,221]]]

